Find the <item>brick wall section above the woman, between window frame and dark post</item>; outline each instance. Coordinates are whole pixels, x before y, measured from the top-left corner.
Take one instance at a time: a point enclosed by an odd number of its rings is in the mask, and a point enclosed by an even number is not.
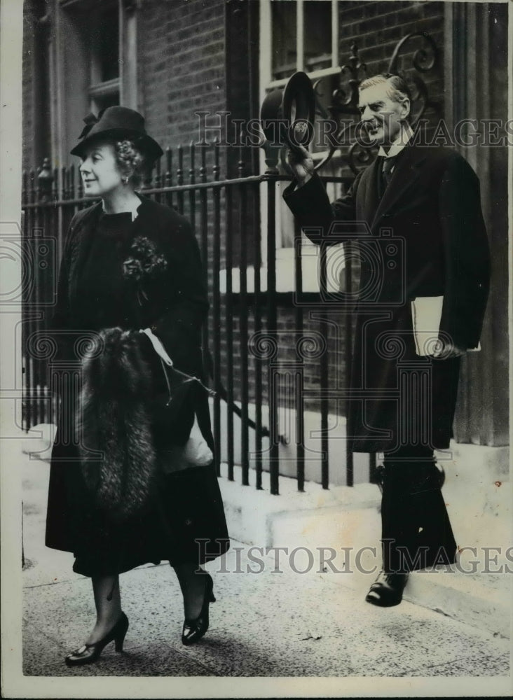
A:
[[[196,141],[196,110],[226,109],[223,0],[149,0],[138,20],[139,99],[165,146]]]

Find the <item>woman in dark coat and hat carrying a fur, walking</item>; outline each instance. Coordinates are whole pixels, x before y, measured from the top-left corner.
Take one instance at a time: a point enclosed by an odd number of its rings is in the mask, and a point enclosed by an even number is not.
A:
[[[161,559],[184,595],[182,641],[196,642],[214,600],[198,565],[229,546],[198,381],[208,309],[198,244],[185,218],[135,193],[139,173],[162,155],[142,116],[110,107],[85,121],[71,153],[82,159],[86,195],[102,201],[74,216],[60,267],[61,410],[46,524],[46,545],[74,552],[74,571],[93,582],[96,624],[69,666],[95,661],[113,640],[121,650],[128,619],[118,575]],[[168,358],[172,372],[198,379],[177,391],[176,378],[188,377],[170,378]]]

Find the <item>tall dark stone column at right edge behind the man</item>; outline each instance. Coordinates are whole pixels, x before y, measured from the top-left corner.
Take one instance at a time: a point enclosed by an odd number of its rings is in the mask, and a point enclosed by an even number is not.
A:
[[[492,259],[482,350],[463,360],[455,437],[500,446],[509,442],[507,147],[491,145],[483,120],[507,120],[507,4],[451,2],[445,13],[445,116],[451,134],[478,120],[484,141],[456,147],[479,176]]]

